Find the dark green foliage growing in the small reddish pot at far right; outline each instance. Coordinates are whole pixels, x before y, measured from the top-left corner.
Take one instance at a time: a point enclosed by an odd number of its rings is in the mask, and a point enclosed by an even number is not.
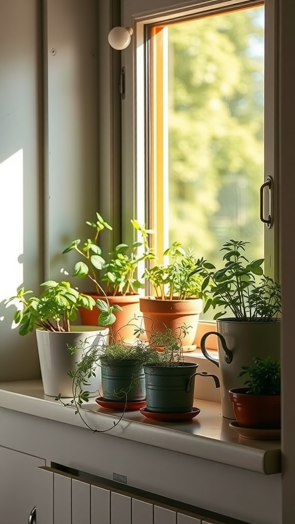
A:
[[[245,386],[250,395],[280,395],[281,393],[281,366],[279,361],[271,357],[254,357],[253,366],[241,366],[238,377],[248,375]]]

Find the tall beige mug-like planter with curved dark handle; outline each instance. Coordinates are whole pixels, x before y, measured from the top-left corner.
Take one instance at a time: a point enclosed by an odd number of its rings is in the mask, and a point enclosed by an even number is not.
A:
[[[241,366],[252,366],[253,357],[280,359],[280,321],[240,322],[235,318],[216,321],[217,333],[209,331],[201,339],[201,351],[210,362],[220,367],[222,414],[235,417],[228,390],[244,387],[245,378],[238,374]],[[209,335],[218,337],[218,359],[207,351]]]

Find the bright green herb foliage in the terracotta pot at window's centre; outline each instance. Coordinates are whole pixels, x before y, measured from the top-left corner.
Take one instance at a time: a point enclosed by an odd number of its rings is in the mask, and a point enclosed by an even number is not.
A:
[[[194,274],[197,259],[192,250],[185,251],[181,244],[174,242],[164,252],[169,256],[171,263],[145,269],[144,278],[151,282],[156,298],[161,300],[185,300],[189,298],[203,298],[203,278]]]

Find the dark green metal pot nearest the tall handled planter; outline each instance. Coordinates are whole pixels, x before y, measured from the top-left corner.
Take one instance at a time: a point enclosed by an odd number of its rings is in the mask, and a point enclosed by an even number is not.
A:
[[[144,366],[146,409],[156,413],[191,411],[197,366],[191,362],[177,367]]]

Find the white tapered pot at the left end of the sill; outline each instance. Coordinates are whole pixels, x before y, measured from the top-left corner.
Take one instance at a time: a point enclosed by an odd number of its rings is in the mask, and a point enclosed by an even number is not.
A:
[[[100,345],[108,336],[108,328],[97,326],[71,326],[70,332],[51,332],[36,330],[38,354],[41,368],[41,377],[45,395],[50,397],[72,397],[72,379],[68,372],[75,370],[75,363],[79,361],[82,350],[70,355],[68,347],[78,346],[89,348],[91,345]],[[96,377],[91,377],[89,386],[85,389],[91,394],[98,395],[101,389],[101,370],[97,367]]]

